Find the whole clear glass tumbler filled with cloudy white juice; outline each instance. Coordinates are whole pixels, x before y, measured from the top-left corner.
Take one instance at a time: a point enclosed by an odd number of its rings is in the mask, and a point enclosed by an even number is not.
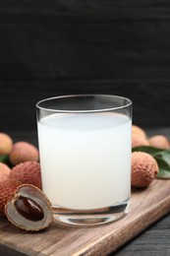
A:
[[[42,189],[61,224],[90,226],[129,212],[132,101],[55,96],[36,104]]]

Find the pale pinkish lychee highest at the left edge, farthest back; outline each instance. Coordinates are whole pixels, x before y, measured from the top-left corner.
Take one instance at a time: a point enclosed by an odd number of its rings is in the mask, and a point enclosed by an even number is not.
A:
[[[0,156],[8,155],[13,147],[12,138],[6,133],[0,133]]]

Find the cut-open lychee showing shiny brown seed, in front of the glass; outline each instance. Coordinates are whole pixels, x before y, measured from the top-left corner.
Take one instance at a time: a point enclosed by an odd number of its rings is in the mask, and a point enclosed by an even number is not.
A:
[[[27,231],[46,228],[53,220],[52,206],[46,195],[30,184],[19,186],[5,206],[7,219]]]

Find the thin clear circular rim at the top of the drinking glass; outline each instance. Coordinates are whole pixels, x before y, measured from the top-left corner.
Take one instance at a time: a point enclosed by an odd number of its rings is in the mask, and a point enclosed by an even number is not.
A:
[[[97,96],[97,97],[101,97],[101,96],[104,96],[104,97],[113,97],[113,98],[117,98],[117,99],[126,99],[127,100],[127,103],[124,103],[120,106],[114,106],[114,107],[107,107],[107,108],[98,108],[98,109],[90,109],[90,110],[66,110],[66,109],[57,109],[57,108],[50,108],[50,107],[43,107],[43,106],[40,106],[41,103],[43,102],[47,102],[47,101],[50,101],[50,100],[53,100],[53,99],[60,99],[60,98],[71,98],[71,97],[85,97],[85,96]],[[51,112],[63,112],[63,113],[90,113],[90,112],[104,112],[104,111],[113,111],[113,110],[119,110],[119,109],[123,109],[123,108],[126,108],[126,107],[129,107],[133,104],[133,101],[126,97],[126,96],[116,96],[116,95],[103,95],[103,94],[82,94],[82,95],[65,95],[65,96],[51,96],[51,97],[46,97],[46,98],[43,98],[39,101],[36,102],[35,106],[37,109],[39,110],[46,110],[46,111],[51,111]]]

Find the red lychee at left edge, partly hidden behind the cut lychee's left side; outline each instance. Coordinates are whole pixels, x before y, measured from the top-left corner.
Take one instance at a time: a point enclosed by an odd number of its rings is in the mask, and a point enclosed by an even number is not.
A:
[[[11,200],[20,182],[15,179],[7,179],[0,182],[0,215],[5,216],[5,205]]]

